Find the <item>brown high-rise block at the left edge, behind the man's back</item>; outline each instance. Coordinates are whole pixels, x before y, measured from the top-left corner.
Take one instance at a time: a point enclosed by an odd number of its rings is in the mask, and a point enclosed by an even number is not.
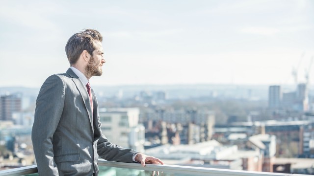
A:
[[[22,98],[20,95],[0,96],[0,120],[12,120],[13,112],[22,110]]]

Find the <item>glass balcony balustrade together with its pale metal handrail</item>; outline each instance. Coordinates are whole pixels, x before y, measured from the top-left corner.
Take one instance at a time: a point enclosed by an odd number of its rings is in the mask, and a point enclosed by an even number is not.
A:
[[[142,167],[139,163],[110,162],[99,160],[99,176],[151,176],[159,171],[160,176],[309,176],[299,174],[267,173],[228,169],[213,169],[178,165],[152,165]],[[304,174],[306,174],[305,172]],[[0,171],[0,176],[38,176],[37,166]]]

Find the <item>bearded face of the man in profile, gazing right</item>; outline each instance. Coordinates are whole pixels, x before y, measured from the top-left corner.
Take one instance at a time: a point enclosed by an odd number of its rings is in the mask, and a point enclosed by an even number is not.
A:
[[[103,45],[99,41],[94,41],[95,50],[91,56],[85,71],[92,76],[101,76],[103,74],[102,66],[105,64]]]

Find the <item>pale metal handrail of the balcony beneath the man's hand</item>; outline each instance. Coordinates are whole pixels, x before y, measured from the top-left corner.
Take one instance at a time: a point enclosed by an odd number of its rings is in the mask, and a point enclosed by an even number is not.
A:
[[[253,172],[253,171],[238,171],[229,169],[213,169],[213,168],[203,168],[203,167],[191,167],[191,166],[179,166],[179,165],[156,165],[147,164],[142,167],[138,163],[122,163],[122,162],[112,162],[105,161],[103,159],[99,160],[98,165],[101,167],[108,168],[124,168],[131,170],[144,170],[144,171],[159,171],[163,173],[172,173],[171,176],[310,176],[301,174],[282,174],[282,173],[267,173],[267,172]],[[0,171],[0,176],[36,176],[37,166],[27,166],[16,169],[8,169]],[[100,170],[101,172],[101,170]],[[35,174],[35,175],[33,175]],[[161,176],[163,174],[160,174]]]

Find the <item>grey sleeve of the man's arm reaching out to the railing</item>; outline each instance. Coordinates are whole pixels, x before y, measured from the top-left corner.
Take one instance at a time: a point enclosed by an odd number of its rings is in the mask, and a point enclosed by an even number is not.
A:
[[[98,115],[98,129],[101,133],[101,136],[97,143],[97,153],[100,157],[104,158],[107,161],[119,161],[119,162],[133,162],[133,154],[138,152],[132,149],[125,149],[116,144],[112,144],[108,141],[101,130],[101,122],[100,117]]]

